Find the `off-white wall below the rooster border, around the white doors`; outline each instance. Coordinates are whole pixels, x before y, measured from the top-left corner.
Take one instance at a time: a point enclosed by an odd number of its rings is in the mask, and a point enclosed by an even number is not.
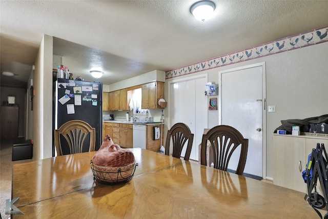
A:
[[[276,106],[276,112],[267,112],[267,177],[271,178],[273,177],[272,167],[274,162],[272,133],[281,125],[280,121],[328,114],[327,61],[328,42],[325,42],[251,59],[250,61],[200,71],[181,76],[181,78],[207,73],[209,82],[218,83],[219,71],[254,63],[266,63],[267,106]],[[166,80],[166,95],[169,89],[168,82],[173,79],[176,78]],[[207,119],[209,128],[218,125],[218,111],[209,111]]]

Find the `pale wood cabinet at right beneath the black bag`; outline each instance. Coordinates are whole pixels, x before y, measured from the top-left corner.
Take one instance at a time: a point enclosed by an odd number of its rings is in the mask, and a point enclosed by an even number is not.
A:
[[[273,184],[306,193],[302,171],[317,143],[327,148],[328,137],[274,134]]]

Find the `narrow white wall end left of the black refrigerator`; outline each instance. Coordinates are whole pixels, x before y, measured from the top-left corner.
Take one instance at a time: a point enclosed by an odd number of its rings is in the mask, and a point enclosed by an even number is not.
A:
[[[44,35],[33,73],[33,160],[52,156],[52,36]]]

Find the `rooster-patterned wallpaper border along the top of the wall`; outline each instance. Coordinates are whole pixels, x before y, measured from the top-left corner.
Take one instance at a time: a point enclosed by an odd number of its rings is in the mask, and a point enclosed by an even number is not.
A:
[[[312,46],[319,43],[328,42],[328,26],[320,29],[314,29],[308,32],[300,33],[293,36],[278,39],[257,47],[241,50],[238,52],[218,56],[215,58],[202,61],[190,66],[167,71],[165,79],[196,73],[199,71],[218,68],[221,66],[231,65],[244,62],[250,59],[260,58],[273,55],[280,52],[286,52],[293,49],[300,49],[306,46]]]

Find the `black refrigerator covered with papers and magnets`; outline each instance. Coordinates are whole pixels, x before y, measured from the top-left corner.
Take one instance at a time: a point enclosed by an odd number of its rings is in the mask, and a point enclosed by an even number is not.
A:
[[[95,128],[95,150],[98,150],[103,130],[103,83],[58,78],[54,82],[53,92],[53,129],[71,120],[87,122]]]

